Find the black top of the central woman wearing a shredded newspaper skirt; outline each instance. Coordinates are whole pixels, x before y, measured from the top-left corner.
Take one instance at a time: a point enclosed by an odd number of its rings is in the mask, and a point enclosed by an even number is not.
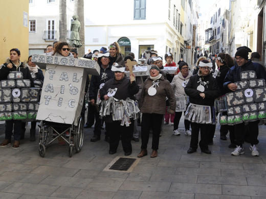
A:
[[[127,97],[134,97],[135,94],[139,92],[139,86],[137,85],[136,81],[130,83],[130,80],[124,77],[120,81],[116,81],[115,78],[108,80],[104,86],[100,89],[101,99],[104,99],[104,95],[107,94],[108,89],[117,88],[116,94],[114,95],[117,99],[126,99]]]

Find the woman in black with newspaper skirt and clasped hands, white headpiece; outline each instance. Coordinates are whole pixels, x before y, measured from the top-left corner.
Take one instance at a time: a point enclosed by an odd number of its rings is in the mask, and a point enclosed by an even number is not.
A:
[[[189,106],[185,118],[191,122],[191,140],[187,151],[192,154],[197,151],[198,133],[201,130],[201,151],[211,154],[208,148],[208,136],[212,123],[215,123],[214,100],[219,96],[220,90],[215,78],[210,75],[212,63],[208,60],[200,61],[198,73],[190,78],[185,87],[189,96]]]

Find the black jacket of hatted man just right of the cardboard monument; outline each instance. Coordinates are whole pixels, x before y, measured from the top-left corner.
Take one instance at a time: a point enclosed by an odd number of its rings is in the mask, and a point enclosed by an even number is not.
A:
[[[92,76],[90,87],[88,88],[88,97],[90,98],[90,100],[94,99],[95,102],[98,98],[97,94],[98,90],[100,89],[100,85],[115,77],[115,73],[111,70],[111,63],[109,63],[109,67],[106,69],[102,68],[101,62],[98,63],[100,66],[100,76]],[[104,79],[104,77],[106,77],[106,79]]]

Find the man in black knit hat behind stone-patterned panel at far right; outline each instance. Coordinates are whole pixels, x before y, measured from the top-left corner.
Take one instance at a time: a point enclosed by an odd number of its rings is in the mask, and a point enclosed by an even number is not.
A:
[[[234,82],[241,81],[240,72],[242,71],[254,70],[256,71],[257,79],[266,80],[266,72],[264,68],[261,65],[253,63],[251,60],[249,60],[249,52],[246,48],[238,49],[238,51],[235,53],[235,61],[236,65],[230,68],[224,81],[224,87],[228,89],[228,92],[236,90],[237,86],[234,84]],[[252,151],[252,156],[259,155],[257,150],[258,122],[259,121],[249,122],[249,131],[252,132],[250,134],[250,150]],[[231,155],[238,156],[245,153],[242,147],[242,144],[245,140],[245,122],[238,123],[234,125],[234,127],[236,148]]]

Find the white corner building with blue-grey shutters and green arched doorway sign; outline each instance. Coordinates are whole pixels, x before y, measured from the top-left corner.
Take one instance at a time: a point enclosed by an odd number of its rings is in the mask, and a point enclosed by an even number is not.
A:
[[[186,57],[185,0],[117,0],[122,9],[114,8],[108,0],[101,3],[104,6],[100,10],[84,13],[85,49],[100,49],[118,41],[121,53],[125,56],[132,52],[136,60],[150,49],[158,51],[163,59],[166,52],[171,52],[175,62]],[[98,7],[97,2],[84,4]]]

